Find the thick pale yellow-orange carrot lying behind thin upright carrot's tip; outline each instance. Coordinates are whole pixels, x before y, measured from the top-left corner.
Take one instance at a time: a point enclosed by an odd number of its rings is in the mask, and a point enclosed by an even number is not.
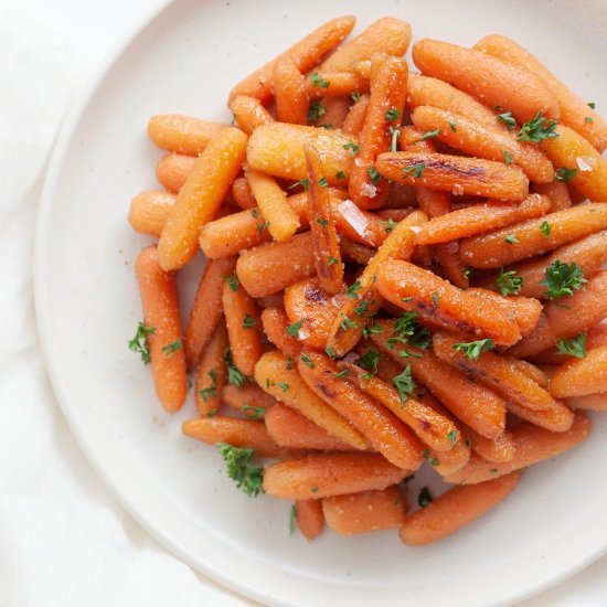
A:
[[[352,167],[352,146],[358,141],[339,130],[319,129],[301,125],[274,123],[264,125],[251,136],[247,160],[253,169],[281,177],[284,179],[303,179],[306,158],[303,143],[316,148],[322,158],[327,181],[340,185],[337,173],[349,173]]]

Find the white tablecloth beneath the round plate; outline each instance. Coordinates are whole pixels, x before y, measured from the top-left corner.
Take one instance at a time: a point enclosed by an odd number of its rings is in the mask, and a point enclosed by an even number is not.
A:
[[[253,605],[172,556],[104,488],[55,401],[35,327],[34,224],[61,119],[161,2],[0,0],[0,606]],[[523,605],[607,605],[607,558]]]

